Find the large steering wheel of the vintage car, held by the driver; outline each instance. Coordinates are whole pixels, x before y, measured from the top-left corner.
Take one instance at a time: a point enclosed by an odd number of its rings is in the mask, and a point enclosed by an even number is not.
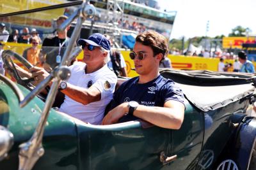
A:
[[[31,67],[33,67],[33,65],[31,63],[29,63],[28,60],[26,60],[24,57],[22,57],[18,53],[13,52],[12,50],[4,50],[2,53],[2,59],[3,59],[4,65],[10,71],[12,71],[14,78],[17,80],[17,83],[19,83],[20,85],[23,85],[24,87],[28,87],[29,89],[31,89],[31,87],[33,87],[33,85],[30,82],[34,81],[34,78],[26,79],[26,78],[20,77],[20,74],[17,71],[15,64],[13,63],[12,57],[19,60],[27,69],[30,69]]]

